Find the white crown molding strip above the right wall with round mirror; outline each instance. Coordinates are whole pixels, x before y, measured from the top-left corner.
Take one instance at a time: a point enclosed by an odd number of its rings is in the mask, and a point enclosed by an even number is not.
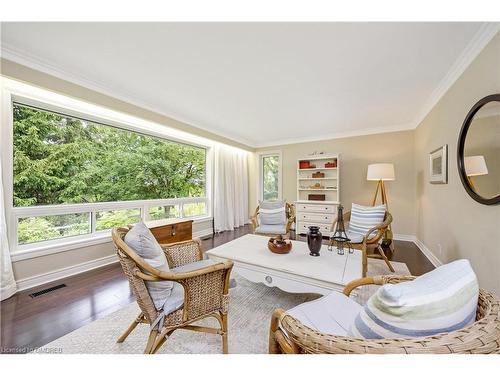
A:
[[[499,31],[500,22],[486,22],[479,28],[418,112],[413,121],[415,129]]]

